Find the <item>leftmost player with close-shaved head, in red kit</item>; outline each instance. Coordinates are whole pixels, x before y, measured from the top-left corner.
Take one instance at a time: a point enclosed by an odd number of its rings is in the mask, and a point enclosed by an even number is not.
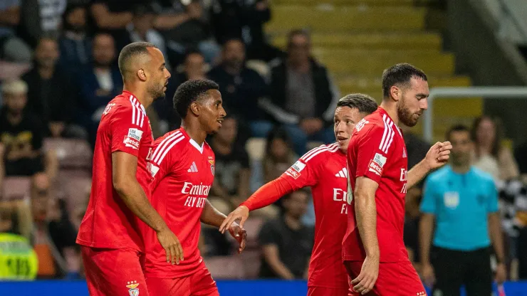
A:
[[[90,201],[77,237],[92,296],[148,295],[142,228],[154,229],[167,265],[183,258],[179,240],[149,201],[153,138],[145,108],[165,96],[165,58],[150,43],[131,43],[122,48],[119,70],[124,90],[100,120]]]

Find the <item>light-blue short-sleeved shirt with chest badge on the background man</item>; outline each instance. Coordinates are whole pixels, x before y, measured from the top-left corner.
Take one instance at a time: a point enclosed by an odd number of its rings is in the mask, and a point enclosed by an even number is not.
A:
[[[498,211],[492,176],[475,167],[465,174],[456,173],[451,166],[434,171],[424,186],[421,211],[436,218],[437,247],[461,251],[488,247],[488,216]]]

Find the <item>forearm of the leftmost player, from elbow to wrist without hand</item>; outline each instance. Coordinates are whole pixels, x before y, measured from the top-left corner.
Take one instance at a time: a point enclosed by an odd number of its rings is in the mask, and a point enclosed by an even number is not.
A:
[[[150,201],[148,201],[145,191],[142,189],[137,180],[128,181],[126,184],[114,184],[115,191],[119,194],[122,201],[130,208],[137,218],[145,222],[147,226],[156,232],[167,228],[167,224],[161,218],[160,214],[155,211]]]

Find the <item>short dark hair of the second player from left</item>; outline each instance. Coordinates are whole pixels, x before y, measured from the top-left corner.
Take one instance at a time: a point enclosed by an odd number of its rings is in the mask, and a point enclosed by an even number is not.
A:
[[[219,85],[207,79],[187,80],[179,85],[174,93],[174,110],[179,117],[186,117],[190,104],[199,100],[208,90],[219,90]]]

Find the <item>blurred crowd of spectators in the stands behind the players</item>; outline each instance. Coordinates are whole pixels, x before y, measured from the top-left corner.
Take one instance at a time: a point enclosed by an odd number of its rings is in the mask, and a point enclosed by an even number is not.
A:
[[[263,26],[270,18],[268,0],[1,1],[0,63],[6,70],[0,77],[0,187],[24,176],[31,190],[28,199],[0,191],[0,232],[27,239],[38,257],[38,277],[82,276],[75,237],[90,187],[88,182],[64,189],[73,174],[71,164],[61,163],[61,139],[88,143],[89,154],[105,106],[122,91],[116,60],[127,43],[155,44],[172,73],[165,99],[147,110],[155,137],[179,127],[172,96],[181,83],[219,83],[227,117],[208,142],[216,154],[210,200],[223,213],[311,147],[334,141],[338,88],[311,55],[306,31],[292,30],[286,51],[268,43]],[[429,143],[404,131],[412,167]],[[254,138],[266,143],[261,157],[247,148]],[[502,139],[499,120],[476,119],[472,164],[494,177],[510,275],[527,279],[527,260],[518,251],[527,249],[527,144],[513,153]],[[90,159],[84,161],[88,165],[76,166],[75,174],[89,179]],[[73,191],[80,197],[70,196]],[[405,223],[405,243],[418,271],[421,198],[422,186],[408,191]],[[251,274],[276,277],[271,265],[279,260],[289,278],[305,278],[313,216],[309,191],[251,214],[261,222],[248,229],[254,240],[248,250],[261,260]],[[281,223],[283,217],[289,223]],[[278,252],[261,255],[260,248],[270,246]],[[200,250],[210,258],[234,249],[226,236],[204,227]]]

